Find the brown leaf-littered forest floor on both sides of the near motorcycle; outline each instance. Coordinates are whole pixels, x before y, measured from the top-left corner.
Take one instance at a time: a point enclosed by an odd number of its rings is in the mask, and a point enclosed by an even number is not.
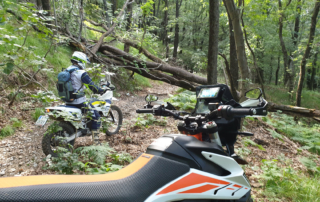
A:
[[[152,87],[144,88],[135,93],[119,92],[120,96],[117,97],[119,101],[114,104],[119,106],[123,112],[123,126],[119,134],[114,136],[109,137],[101,133],[100,140],[108,142],[116,151],[127,152],[135,158],[141,152],[145,152],[148,145],[156,138],[168,133],[178,133],[176,121],[172,118],[168,118],[164,126],[150,125],[138,127],[136,124],[138,114],[135,112],[136,109],[142,108],[146,104],[144,98],[148,93],[156,94],[159,100],[163,100],[168,98],[169,94],[174,94],[176,90],[177,87],[175,86],[152,82]],[[31,118],[32,112],[23,111],[23,109],[25,109],[24,105],[17,104],[15,108],[7,109],[5,116],[0,117],[0,127],[8,123],[8,120],[12,117],[25,120],[22,129],[16,130],[14,135],[0,140],[0,177],[53,173],[52,171],[42,169],[45,164],[43,161],[45,155],[41,148],[41,138],[46,128],[35,126]],[[157,117],[157,119],[160,119],[160,117]],[[265,150],[261,150],[261,148],[259,149],[250,144],[245,146],[245,138],[240,136],[235,144],[236,153],[239,152],[249,162],[243,168],[253,187],[252,194],[259,201],[268,201],[262,196],[264,186],[257,178],[263,172],[261,170],[263,159],[277,159],[280,166],[286,166],[284,159],[290,159],[292,168],[306,171],[305,166],[302,165],[299,158],[308,156],[308,152],[305,150],[298,152],[298,148],[301,147],[298,143],[291,141],[287,137],[284,137],[282,141],[275,139],[267,129],[274,130],[272,126],[267,125],[261,119],[247,119],[245,130],[254,133],[254,136],[249,139],[262,145]],[[77,138],[75,147],[90,144],[91,137],[81,137]],[[243,152],[243,148],[246,148],[250,152]],[[283,199],[283,201],[286,200]]]

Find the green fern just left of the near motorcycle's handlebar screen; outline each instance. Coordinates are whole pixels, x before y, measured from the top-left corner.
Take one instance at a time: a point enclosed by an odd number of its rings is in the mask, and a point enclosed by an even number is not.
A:
[[[173,106],[182,110],[192,110],[196,106],[197,98],[195,92],[185,90],[176,95],[170,95],[170,98],[165,99],[166,102],[170,102]]]

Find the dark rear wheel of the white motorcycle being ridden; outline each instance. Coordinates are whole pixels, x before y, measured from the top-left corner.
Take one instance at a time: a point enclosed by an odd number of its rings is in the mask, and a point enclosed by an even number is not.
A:
[[[59,126],[61,127],[60,130],[55,133],[46,134],[42,138],[42,151],[46,156],[51,154],[52,157],[58,157],[58,147],[63,147],[70,150],[69,145],[74,145],[74,140],[67,144],[63,139],[71,136],[75,132],[74,127],[67,122],[60,122]]]

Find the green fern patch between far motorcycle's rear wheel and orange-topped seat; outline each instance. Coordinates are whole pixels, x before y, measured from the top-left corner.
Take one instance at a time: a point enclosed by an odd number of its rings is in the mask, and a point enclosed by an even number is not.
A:
[[[58,149],[58,157],[46,157],[47,165],[43,169],[57,171],[61,174],[104,174],[120,170],[125,163],[132,162],[127,153],[117,154],[109,145],[79,147],[73,152],[68,149]],[[112,162],[107,162],[111,158]],[[120,164],[120,165],[119,165]]]

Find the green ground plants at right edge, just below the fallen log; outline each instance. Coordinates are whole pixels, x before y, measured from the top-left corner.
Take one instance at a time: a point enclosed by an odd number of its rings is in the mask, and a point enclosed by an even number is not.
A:
[[[282,139],[281,134],[285,134],[292,140],[303,145],[301,149],[307,149],[313,153],[320,151],[320,125],[314,122],[307,123],[303,119],[295,121],[292,116],[281,114],[281,112],[270,113],[263,119],[269,125],[277,129],[271,131],[271,135]],[[281,133],[281,134],[279,134]]]

